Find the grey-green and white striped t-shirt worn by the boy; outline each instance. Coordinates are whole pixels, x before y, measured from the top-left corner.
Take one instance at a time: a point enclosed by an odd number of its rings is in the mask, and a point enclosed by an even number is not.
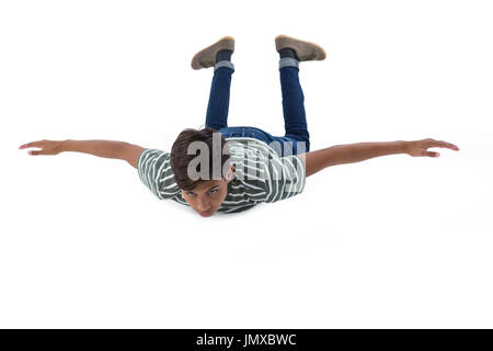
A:
[[[218,212],[242,212],[259,203],[285,200],[303,191],[306,169],[300,156],[279,157],[266,143],[251,137],[226,140],[234,172]],[[158,149],[144,150],[137,161],[140,180],[159,199],[190,206],[174,180],[170,155]]]

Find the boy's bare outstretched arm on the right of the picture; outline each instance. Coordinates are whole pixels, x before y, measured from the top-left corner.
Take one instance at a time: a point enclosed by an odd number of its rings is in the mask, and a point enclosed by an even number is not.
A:
[[[307,177],[336,165],[364,161],[378,156],[408,154],[410,156],[438,157],[438,152],[427,151],[429,147],[445,147],[458,151],[459,148],[450,143],[432,138],[413,141],[380,141],[335,145],[325,149],[302,154]]]

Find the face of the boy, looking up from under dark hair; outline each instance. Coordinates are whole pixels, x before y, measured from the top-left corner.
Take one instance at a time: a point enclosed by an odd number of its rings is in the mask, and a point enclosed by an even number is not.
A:
[[[182,195],[188,205],[203,217],[210,217],[228,195],[228,183],[232,176],[230,168],[226,179],[206,180],[198,183],[193,190],[183,190]]]

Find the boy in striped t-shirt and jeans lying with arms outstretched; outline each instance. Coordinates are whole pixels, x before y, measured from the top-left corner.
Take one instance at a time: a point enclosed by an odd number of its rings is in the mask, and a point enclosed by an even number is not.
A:
[[[77,151],[126,160],[137,168],[156,196],[188,205],[203,217],[291,197],[302,192],[306,177],[330,166],[392,154],[437,157],[438,152],[427,151],[431,147],[459,150],[456,145],[428,138],[336,145],[310,151],[299,63],[323,60],[325,52],[314,43],[286,35],[278,35],[275,46],[279,53],[284,136],[250,126],[228,127],[234,39],[225,36],[192,59],[193,69],[214,67],[206,127],[184,129],[171,152],[111,140],[39,140],[20,148],[41,148],[30,155]]]

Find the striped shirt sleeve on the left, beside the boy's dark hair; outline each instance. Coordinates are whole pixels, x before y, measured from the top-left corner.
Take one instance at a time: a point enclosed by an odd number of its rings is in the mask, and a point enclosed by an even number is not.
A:
[[[159,199],[172,199],[180,193],[171,169],[170,152],[146,149],[137,160],[137,170],[142,183]]]

